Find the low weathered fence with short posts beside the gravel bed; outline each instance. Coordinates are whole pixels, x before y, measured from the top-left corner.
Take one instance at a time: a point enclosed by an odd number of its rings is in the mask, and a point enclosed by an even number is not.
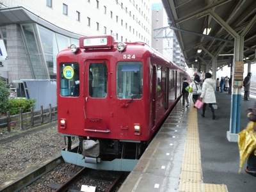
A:
[[[7,111],[6,116],[0,118],[0,128],[7,127],[7,131],[10,132],[12,126],[19,126],[21,130],[24,130],[56,119],[57,106],[52,107],[51,104],[49,104],[49,108],[47,109],[41,106],[40,110],[34,111],[33,108],[31,108],[31,111],[27,113],[22,113],[22,109],[20,109],[19,115],[11,116],[10,112]]]

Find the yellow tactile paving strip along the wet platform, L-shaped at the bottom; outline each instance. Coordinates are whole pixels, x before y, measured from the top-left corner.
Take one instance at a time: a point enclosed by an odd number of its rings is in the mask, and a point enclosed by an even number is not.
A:
[[[204,183],[200,157],[197,113],[195,108],[191,108],[180,173],[179,192],[227,192],[225,184]]]

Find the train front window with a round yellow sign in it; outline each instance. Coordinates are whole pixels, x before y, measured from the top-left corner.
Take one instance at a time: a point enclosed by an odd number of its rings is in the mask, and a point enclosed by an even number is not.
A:
[[[60,95],[65,97],[79,96],[79,65],[78,63],[60,64]]]

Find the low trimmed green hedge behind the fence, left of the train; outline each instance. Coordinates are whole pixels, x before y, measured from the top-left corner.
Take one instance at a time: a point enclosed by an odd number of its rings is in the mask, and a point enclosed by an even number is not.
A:
[[[35,107],[36,99],[9,99],[8,111],[10,115],[17,115],[20,113],[20,108],[23,113],[29,112],[30,108]]]

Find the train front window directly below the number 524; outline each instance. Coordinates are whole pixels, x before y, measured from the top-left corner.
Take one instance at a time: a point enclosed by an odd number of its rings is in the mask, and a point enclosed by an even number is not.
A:
[[[116,65],[116,97],[140,99],[142,97],[142,63],[120,61]]]

